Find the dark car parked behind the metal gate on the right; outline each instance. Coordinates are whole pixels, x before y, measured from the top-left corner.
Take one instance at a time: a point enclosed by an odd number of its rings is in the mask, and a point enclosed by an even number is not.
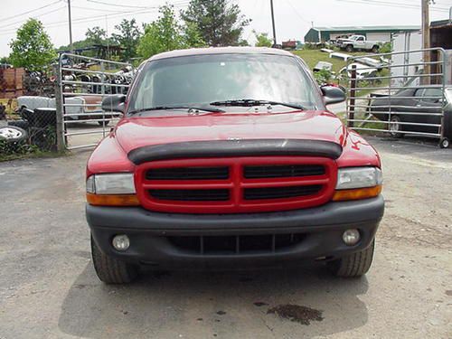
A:
[[[392,137],[403,137],[410,132],[438,135],[443,110],[444,137],[440,141],[440,146],[448,147],[452,138],[452,87],[450,85],[445,93],[438,85],[403,89],[391,97],[380,96],[372,99],[369,106],[369,111],[375,118],[390,122],[389,130]]]

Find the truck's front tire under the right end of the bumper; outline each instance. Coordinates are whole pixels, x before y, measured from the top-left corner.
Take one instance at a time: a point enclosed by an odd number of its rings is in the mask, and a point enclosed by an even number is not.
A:
[[[355,278],[361,277],[369,271],[372,265],[375,240],[365,250],[355,252],[341,259],[328,262],[329,267],[336,277]]]

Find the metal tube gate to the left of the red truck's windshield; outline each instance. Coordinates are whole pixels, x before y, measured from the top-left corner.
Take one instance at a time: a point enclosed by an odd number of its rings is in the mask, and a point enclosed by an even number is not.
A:
[[[97,146],[108,135],[122,114],[103,111],[102,99],[126,94],[134,74],[135,69],[126,62],[60,55],[55,99],[62,147]]]

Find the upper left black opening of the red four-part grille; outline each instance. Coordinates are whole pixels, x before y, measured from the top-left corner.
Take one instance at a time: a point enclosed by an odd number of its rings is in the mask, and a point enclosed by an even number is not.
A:
[[[221,180],[228,179],[229,167],[174,167],[151,168],[146,180]]]

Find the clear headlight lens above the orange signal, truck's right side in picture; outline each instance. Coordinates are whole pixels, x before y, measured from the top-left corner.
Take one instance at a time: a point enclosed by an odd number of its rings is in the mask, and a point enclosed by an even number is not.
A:
[[[383,182],[381,170],[376,167],[340,168],[337,173],[336,190],[351,190],[379,186]]]

